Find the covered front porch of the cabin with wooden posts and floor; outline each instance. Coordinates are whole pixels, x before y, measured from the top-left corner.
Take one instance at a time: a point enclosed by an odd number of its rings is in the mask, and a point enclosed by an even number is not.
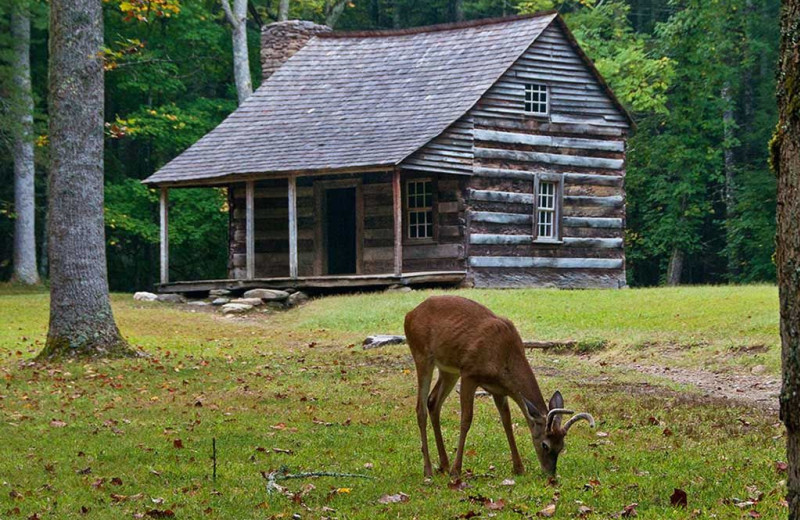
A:
[[[432,176],[424,177],[433,190],[425,200],[430,201],[429,231],[435,233],[409,238],[403,183],[419,184],[419,178],[417,172],[394,168],[229,181],[227,276],[201,280],[170,277],[168,189],[182,186],[161,186],[161,278],[156,290],[314,292],[457,285],[467,277],[458,202],[461,179],[430,182]]]

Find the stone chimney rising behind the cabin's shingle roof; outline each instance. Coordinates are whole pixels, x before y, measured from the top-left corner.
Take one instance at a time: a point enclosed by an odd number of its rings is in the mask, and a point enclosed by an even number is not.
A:
[[[318,33],[330,32],[327,25],[317,25],[304,20],[275,22],[261,28],[261,81],[291,58],[295,52]]]

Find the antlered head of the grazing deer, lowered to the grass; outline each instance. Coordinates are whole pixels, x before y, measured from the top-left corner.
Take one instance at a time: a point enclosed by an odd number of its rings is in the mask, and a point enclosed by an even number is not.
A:
[[[558,455],[564,449],[564,438],[569,429],[580,420],[588,421],[589,425],[594,428],[594,418],[588,413],[575,414],[562,427],[561,416],[575,412],[564,408],[564,398],[558,390],[550,398],[548,410],[538,410],[527,399],[524,401],[528,412],[526,417],[528,428],[531,430],[533,447],[539,458],[539,464],[546,473],[555,475]]]

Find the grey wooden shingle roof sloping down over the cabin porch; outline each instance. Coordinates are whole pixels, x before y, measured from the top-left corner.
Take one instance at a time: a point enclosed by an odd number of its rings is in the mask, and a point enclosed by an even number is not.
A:
[[[318,35],[144,182],[398,164],[466,113],[556,16]]]

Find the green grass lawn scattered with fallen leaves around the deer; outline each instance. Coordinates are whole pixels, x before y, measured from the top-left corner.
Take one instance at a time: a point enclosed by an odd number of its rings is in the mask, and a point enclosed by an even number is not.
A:
[[[0,288],[0,518],[537,518],[551,504],[554,518],[581,507],[624,518],[626,506],[639,518],[785,516],[777,417],[618,368],[636,356],[776,375],[774,287],[460,291],[525,338],[603,347],[530,354],[548,395],[558,388],[598,419],[571,431],[558,480],[540,473],[516,409],[528,472],[512,475],[494,405],[478,398],[465,489],[422,478],[407,347],[359,347],[368,333],[402,333],[405,312],[432,293],[329,297],[244,319],[115,295],[120,328],[150,358],[40,366],[29,361],[47,295]],[[455,394],[443,430],[455,449]],[[371,478],[285,480],[269,494],[272,471]],[[688,508],[671,505],[675,488]],[[398,493],[407,500],[381,503]]]

